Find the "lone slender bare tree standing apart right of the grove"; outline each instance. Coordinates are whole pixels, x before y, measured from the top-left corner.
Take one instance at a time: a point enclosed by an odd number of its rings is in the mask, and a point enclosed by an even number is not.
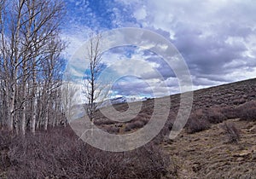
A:
[[[94,38],[90,36],[89,46],[87,47],[88,54],[86,55],[89,66],[84,74],[84,96],[87,100],[84,104],[84,109],[90,121],[93,120],[97,107],[108,97],[109,91],[108,84],[99,81],[99,76],[104,69],[101,45],[101,34],[96,35]]]

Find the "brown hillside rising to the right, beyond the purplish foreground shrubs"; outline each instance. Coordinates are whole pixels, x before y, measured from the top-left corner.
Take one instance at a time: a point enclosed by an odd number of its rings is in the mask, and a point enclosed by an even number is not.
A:
[[[179,95],[172,95],[171,101],[167,126],[154,141],[161,143],[169,154],[170,170],[177,178],[255,178],[256,78],[196,90],[188,125],[173,141],[166,140],[165,136],[168,136],[166,129],[171,129],[176,118]],[[128,106],[114,107],[123,112]],[[102,115],[96,122],[111,133],[133,132],[147,124],[153,108],[154,100],[143,101],[141,112],[128,123],[104,120]],[[209,121],[206,128],[202,120]],[[240,137],[237,142],[230,141],[224,124],[235,125]]]

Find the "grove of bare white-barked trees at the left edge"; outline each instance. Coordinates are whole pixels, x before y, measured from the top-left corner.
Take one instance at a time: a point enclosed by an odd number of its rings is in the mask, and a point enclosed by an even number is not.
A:
[[[59,0],[0,0],[0,127],[25,134],[61,124]]]

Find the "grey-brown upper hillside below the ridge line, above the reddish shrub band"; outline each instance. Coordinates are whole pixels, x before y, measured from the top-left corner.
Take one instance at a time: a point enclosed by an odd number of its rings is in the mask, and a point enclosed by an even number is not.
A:
[[[166,98],[169,98],[166,97]],[[167,124],[170,126],[177,117],[177,109],[179,107],[180,95],[171,95],[171,108]],[[233,112],[236,107],[242,105],[248,101],[256,100],[256,78],[240,81],[232,84],[224,84],[202,90],[194,91],[192,113],[196,113],[200,110],[206,113],[224,113],[228,118],[234,118]],[[130,103],[130,105],[137,105],[137,103]],[[127,103],[117,104],[113,106],[119,112],[125,112],[128,109]],[[165,104],[162,104],[162,108]],[[108,107],[107,107],[108,108]],[[108,111],[108,109],[107,109]],[[119,123],[109,120],[102,113],[96,113],[95,123],[104,129],[110,129],[113,131],[121,131],[125,129],[125,126],[132,125],[131,123],[137,122],[137,126],[134,128],[141,128],[144,124],[147,124],[152,113],[154,111],[154,99],[143,101],[141,111],[137,114],[136,118],[133,118],[128,123]],[[236,110],[237,111],[237,110]],[[112,108],[109,108],[109,113],[112,113]],[[208,115],[208,114],[207,114]],[[116,129],[113,129],[116,128]],[[111,132],[108,130],[108,132]],[[128,131],[129,129],[127,129]],[[113,132],[114,133],[114,132]]]

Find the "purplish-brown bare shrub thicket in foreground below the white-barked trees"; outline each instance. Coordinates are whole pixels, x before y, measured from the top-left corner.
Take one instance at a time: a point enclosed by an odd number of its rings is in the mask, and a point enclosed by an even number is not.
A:
[[[0,169],[8,178],[161,178],[169,175],[169,156],[152,143],[131,152],[111,153],[79,141],[73,131],[54,129],[36,136],[1,133],[7,147]],[[3,140],[2,140],[3,139]],[[9,161],[8,166],[6,161]],[[1,170],[0,170],[1,171]]]

